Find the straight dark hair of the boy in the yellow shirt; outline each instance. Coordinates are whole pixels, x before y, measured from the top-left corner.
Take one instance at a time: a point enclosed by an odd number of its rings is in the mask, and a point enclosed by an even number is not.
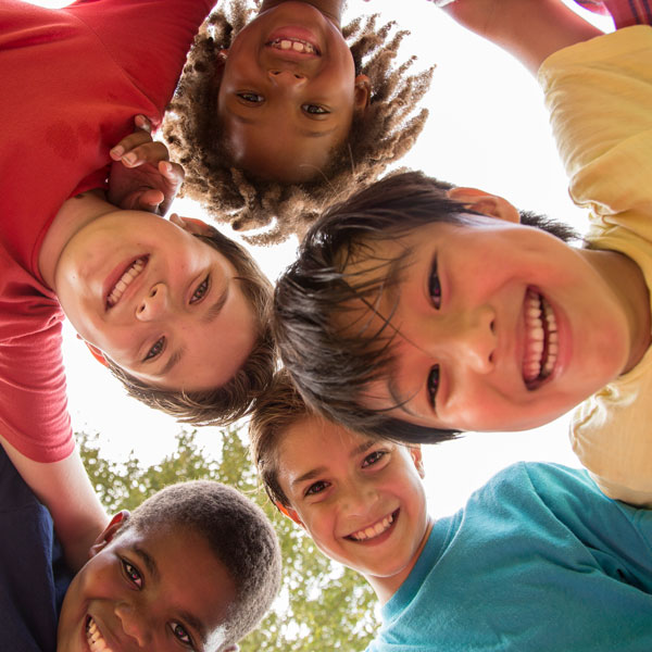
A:
[[[406,443],[459,435],[405,423],[361,402],[368,384],[383,378],[393,362],[397,331],[391,314],[383,317],[376,305],[388,287],[400,283],[411,253],[405,248],[396,259],[381,259],[374,244],[400,242],[436,222],[466,224],[464,215],[476,212],[449,199],[452,187],[419,172],[368,186],[326,211],[276,285],[274,334],[283,363],[311,408],[351,430]],[[576,237],[568,226],[532,213],[522,213],[522,221],[564,240]],[[361,316],[361,301],[381,317],[379,326]]]

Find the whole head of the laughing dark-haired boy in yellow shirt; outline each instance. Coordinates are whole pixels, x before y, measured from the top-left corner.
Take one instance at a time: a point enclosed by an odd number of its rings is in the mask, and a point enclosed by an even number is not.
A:
[[[627,360],[600,252],[560,226],[419,173],[384,179],[328,211],[280,278],[281,359],[311,405],[380,437],[552,421]]]

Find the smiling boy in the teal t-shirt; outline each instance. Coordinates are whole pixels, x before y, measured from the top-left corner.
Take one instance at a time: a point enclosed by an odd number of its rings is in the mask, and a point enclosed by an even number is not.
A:
[[[652,512],[609,500],[586,472],[521,463],[434,522],[418,446],[327,422],[284,374],[251,450],[279,510],[378,595],[369,651],[651,649]]]

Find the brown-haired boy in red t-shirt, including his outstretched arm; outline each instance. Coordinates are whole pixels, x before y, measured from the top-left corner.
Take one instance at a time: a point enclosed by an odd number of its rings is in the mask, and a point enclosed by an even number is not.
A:
[[[130,393],[188,422],[241,416],[273,374],[271,288],[251,256],[201,223],[98,195],[134,115],[160,124],[212,5],[0,1],[0,444],[75,569],[105,514],[74,452],[64,312]]]

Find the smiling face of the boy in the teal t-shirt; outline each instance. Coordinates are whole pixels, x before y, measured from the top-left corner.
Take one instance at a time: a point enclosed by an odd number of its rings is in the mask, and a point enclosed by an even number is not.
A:
[[[290,515],[325,555],[390,593],[427,537],[422,476],[418,448],[374,441],[319,417],[291,426],[278,452]]]

